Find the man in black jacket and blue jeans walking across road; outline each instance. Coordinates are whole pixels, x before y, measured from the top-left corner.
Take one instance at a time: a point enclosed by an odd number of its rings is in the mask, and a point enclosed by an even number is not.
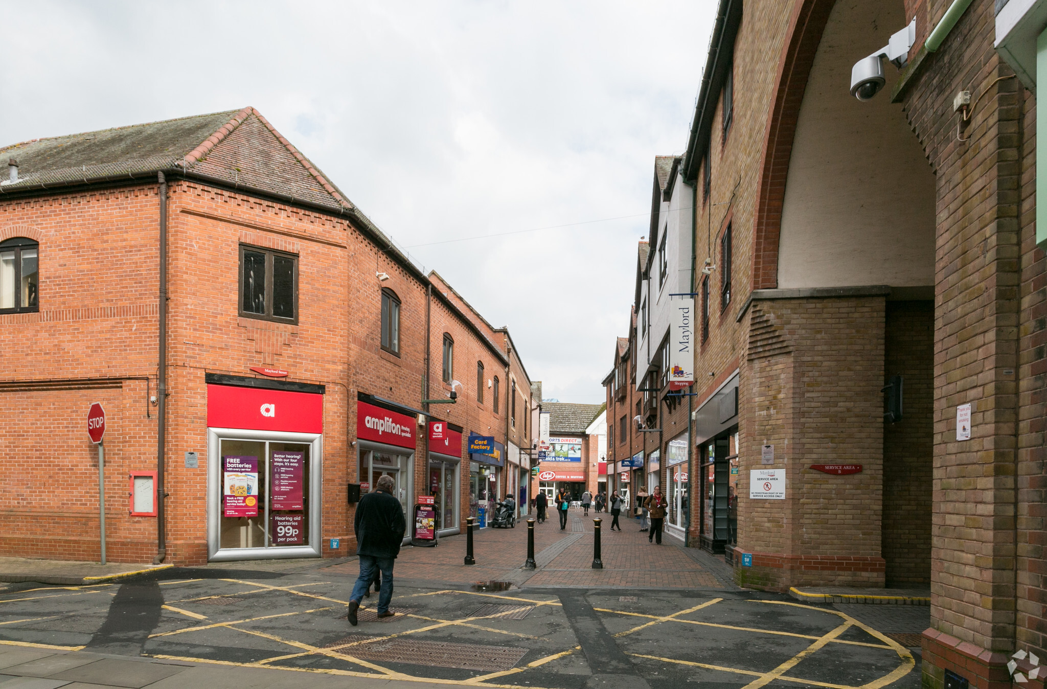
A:
[[[349,597],[349,623],[356,626],[356,612],[363,594],[375,578],[375,570],[382,573],[382,587],[378,594],[378,617],[393,617],[393,563],[400,553],[407,524],[403,518],[400,501],[393,496],[396,482],[393,476],[381,476],[373,493],[367,493],[356,506],[356,554],[360,558],[360,576]]]

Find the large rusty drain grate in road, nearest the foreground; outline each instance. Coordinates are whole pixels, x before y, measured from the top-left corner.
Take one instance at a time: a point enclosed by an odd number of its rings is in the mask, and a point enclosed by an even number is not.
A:
[[[408,663],[460,670],[511,670],[527,654],[526,648],[454,644],[445,641],[419,641],[397,638],[370,641],[373,637],[350,635],[325,646],[363,661]],[[364,642],[364,643],[359,643]],[[351,646],[349,644],[358,643]]]

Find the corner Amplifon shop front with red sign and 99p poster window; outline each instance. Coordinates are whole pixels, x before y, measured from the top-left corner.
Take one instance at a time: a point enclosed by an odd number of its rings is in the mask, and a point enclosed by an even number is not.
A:
[[[207,559],[319,557],[324,385],[205,382]]]

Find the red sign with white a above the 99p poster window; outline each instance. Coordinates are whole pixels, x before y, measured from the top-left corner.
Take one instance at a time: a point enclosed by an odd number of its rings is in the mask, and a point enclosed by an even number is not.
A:
[[[324,432],[324,396],[286,390],[207,385],[211,428]]]

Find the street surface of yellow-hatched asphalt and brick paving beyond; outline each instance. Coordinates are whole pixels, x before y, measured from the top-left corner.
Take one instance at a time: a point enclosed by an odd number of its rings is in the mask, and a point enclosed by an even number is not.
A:
[[[464,536],[404,549],[397,615],[378,621],[365,599],[356,627],[346,619],[355,560],[7,584],[0,689],[919,686],[904,635],[918,634],[923,610],[742,591],[720,560],[671,538],[648,544],[637,528],[603,534],[602,571],[591,566],[592,518],[538,525],[537,570],[521,568],[524,525],[478,532],[472,566]]]

